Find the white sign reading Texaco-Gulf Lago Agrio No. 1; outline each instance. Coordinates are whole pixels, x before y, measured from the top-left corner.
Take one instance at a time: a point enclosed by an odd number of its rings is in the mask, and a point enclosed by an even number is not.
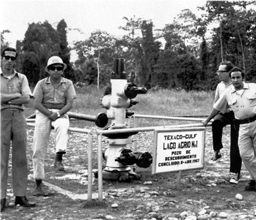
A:
[[[204,168],[205,127],[155,129],[152,174]]]

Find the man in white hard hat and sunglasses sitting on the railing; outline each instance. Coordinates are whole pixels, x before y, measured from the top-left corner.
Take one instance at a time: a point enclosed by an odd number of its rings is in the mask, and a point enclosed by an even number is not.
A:
[[[36,121],[33,140],[33,170],[36,182],[35,195],[47,196],[42,189],[44,180],[44,160],[52,127],[56,134],[56,156],[54,168],[65,171],[62,156],[66,154],[68,142],[68,111],[77,98],[71,80],[61,77],[67,65],[58,56],[50,57],[45,71],[49,77],[40,80],[35,87]]]

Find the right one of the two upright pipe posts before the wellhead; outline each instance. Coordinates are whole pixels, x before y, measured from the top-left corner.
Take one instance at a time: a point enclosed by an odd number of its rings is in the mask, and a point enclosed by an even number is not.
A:
[[[103,200],[102,196],[102,134],[98,135],[98,188],[99,200]]]

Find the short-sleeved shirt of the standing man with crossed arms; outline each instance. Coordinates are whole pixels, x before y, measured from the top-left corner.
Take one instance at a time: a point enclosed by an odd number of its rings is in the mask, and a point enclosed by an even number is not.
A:
[[[20,93],[22,96],[29,95],[32,96],[32,92],[29,89],[28,78],[21,73],[13,70],[13,77],[7,78],[3,75],[3,70],[0,70],[1,75],[1,93],[3,94],[15,94]],[[19,108],[24,110],[24,105],[11,105],[1,103],[1,110],[4,108]]]

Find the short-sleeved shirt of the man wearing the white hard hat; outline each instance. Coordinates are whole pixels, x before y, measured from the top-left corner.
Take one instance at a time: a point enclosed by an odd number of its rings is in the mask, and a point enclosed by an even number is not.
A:
[[[42,103],[67,104],[67,99],[76,99],[76,91],[71,80],[61,77],[57,88],[52,85],[50,77],[40,80],[34,89],[33,96]]]

